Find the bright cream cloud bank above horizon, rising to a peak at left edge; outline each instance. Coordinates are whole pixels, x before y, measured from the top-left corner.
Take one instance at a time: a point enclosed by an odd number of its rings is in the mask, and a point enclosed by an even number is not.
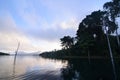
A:
[[[5,12],[0,16],[0,51],[12,52],[16,50],[18,42],[20,42],[21,51],[50,51],[60,49],[59,42],[49,41],[46,39],[29,36],[19,29],[9,12]],[[48,34],[47,34],[48,35]],[[52,45],[52,46],[51,46]]]

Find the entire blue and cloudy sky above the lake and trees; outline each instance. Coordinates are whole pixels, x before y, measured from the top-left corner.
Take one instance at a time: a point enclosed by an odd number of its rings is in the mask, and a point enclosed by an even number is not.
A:
[[[86,15],[110,0],[0,0],[0,51],[61,49],[60,38],[76,36]]]

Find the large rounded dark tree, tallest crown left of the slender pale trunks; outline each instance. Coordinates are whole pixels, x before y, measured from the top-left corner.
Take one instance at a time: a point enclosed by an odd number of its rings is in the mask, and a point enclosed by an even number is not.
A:
[[[92,44],[92,47],[90,47],[91,51],[94,50],[95,52],[95,50],[99,49],[102,46],[102,39],[104,37],[102,16],[104,15],[104,13],[105,12],[100,10],[94,11],[91,13],[91,15],[86,16],[86,18],[83,19],[80,23],[79,29],[77,30],[77,39],[78,45],[81,45],[81,48],[83,48],[82,44],[84,43],[87,46],[86,49],[88,49],[89,46],[91,46]],[[98,46],[98,48],[96,48],[95,46]]]

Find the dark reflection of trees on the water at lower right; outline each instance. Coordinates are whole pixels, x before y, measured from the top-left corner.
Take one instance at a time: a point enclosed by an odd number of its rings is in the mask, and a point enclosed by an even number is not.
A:
[[[120,70],[119,67],[117,65],[117,70]],[[72,59],[61,73],[64,80],[114,80],[112,65],[107,59],[92,59],[91,64],[87,59]]]

